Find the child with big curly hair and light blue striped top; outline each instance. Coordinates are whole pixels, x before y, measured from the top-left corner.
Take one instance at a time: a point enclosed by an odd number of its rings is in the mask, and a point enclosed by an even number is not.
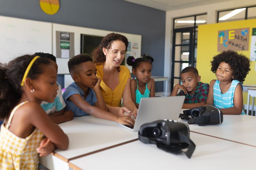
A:
[[[232,50],[213,57],[211,71],[217,80],[210,82],[206,105],[219,108],[223,114],[245,114],[243,111],[243,82],[250,69],[250,60]]]

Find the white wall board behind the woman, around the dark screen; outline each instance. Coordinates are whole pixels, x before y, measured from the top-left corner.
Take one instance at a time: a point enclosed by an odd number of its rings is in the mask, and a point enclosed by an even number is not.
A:
[[[95,35],[95,36],[103,36],[105,37],[107,34],[113,32],[113,31],[106,31],[106,30],[98,30],[98,29],[92,29],[92,28],[85,28],[85,27],[78,27],[78,26],[71,26],[71,25],[62,25],[62,24],[52,24],[52,47],[53,47],[53,55],[56,56],[56,31],[61,32],[74,32],[74,46],[75,46],[75,55],[80,54],[80,39],[81,34],[86,35]],[[115,32],[122,34],[126,36],[130,43],[130,49],[127,50],[126,56],[129,55],[134,56],[135,58],[138,58],[141,56],[141,35],[136,34],[128,34],[124,32]],[[72,56],[70,56],[72,57]],[[69,74],[68,72],[68,65],[65,65],[64,63],[67,63],[69,59],[65,58],[57,58],[57,64],[58,64],[58,74]],[[127,66],[130,69],[130,72],[132,72],[132,67],[128,66],[126,64],[126,58],[125,60],[125,66]]]

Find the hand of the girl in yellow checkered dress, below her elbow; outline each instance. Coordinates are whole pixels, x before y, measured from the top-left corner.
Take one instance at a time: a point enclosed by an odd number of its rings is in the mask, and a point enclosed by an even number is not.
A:
[[[55,145],[48,138],[44,138],[36,149],[39,156],[47,156],[55,150]]]

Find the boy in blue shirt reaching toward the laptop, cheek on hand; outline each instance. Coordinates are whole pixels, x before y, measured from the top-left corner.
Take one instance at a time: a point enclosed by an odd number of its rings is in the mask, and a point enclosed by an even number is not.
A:
[[[92,58],[85,54],[74,56],[68,61],[68,70],[72,79],[63,98],[66,110],[72,110],[74,117],[92,115],[120,124],[134,125],[134,120],[129,116],[119,116],[108,112],[108,108],[100,92],[100,81],[97,69]]]

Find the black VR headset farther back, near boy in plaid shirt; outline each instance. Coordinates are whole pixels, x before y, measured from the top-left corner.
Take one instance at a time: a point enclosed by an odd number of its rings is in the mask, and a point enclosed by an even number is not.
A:
[[[188,124],[196,123],[199,126],[205,124],[222,124],[223,122],[221,110],[211,105],[184,110],[183,114],[180,114],[180,118],[188,119]]]

